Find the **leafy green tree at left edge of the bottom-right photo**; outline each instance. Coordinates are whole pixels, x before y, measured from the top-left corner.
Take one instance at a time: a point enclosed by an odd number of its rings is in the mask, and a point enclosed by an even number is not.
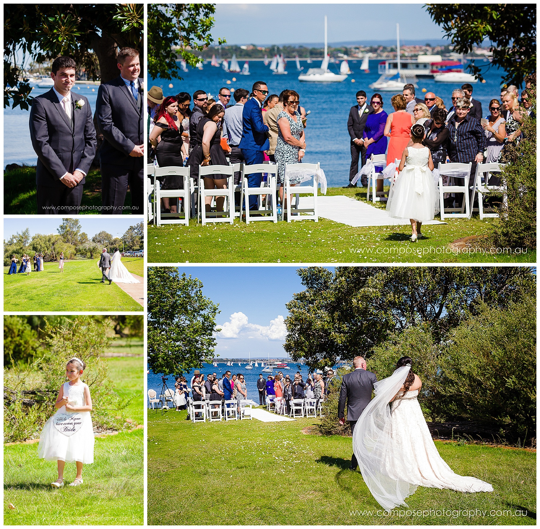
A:
[[[199,279],[173,267],[148,269],[148,364],[154,373],[181,374],[213,358],[218,305]]]

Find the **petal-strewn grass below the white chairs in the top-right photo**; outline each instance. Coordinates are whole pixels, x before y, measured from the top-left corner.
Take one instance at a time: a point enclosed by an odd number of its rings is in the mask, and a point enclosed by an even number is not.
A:
[[[327,196],[366,200],[360,189],[329,188]],[[384,207],[376,203],[377,207]],[[446,219],[445,219],[446,221]],[[486,235],[496,219],[449,219],[422,227],[410,242],[410,226],[351,227],[328,219],[318,223],[149,225],[149,263],[534,263],[536,250],[522,254],[464,253],[450,249],[456,239]],[[474,251],[474,249],[473,249]]]

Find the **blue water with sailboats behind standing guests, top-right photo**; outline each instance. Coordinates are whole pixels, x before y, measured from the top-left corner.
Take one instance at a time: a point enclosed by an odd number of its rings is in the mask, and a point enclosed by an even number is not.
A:
[[[244,60],[239,60],[240,68],[244,65]],[[251,75],[243,76],[239,73],[225,72],[221,68],[215,68],[210,63],[204,64],[203,70],[188,67],[187,72],[183,72],[184,79],[150,79],[148,87],[157,85],[163,88],[165,96],[176,95],[179,92],[189,92],[193,95],[195,90],[205,90],[210,92],[216,101],[217,94],[221,86],[227,88],[245,88],[251,92],[252,84],[255,81],[265,81],[268,84],[270,93],[279,94],[282,90],[296,90],[300,94],[300,103],[307,110],[311,110],[308,116],[306,128],[306,156],[303,160],[306,163],[320,162],[321,168],[325,171],[329,186],[346,185],[349,182],[350,166],[350,138],[347,132],[347,118],[350,107],[356,104],[355,94],[358,90],[365,90],[368,98],[373,94],[369,85],[377,81],[380,77],[377,73],[377,65],[380,60],[369,62],[370,73],[360,70],[361,61],[349,59],[349,68],[353,72],[341,83],[302,83],[298,81],[299,72],[296,71],[294,62],[287,64],[287,75],[273,75],[268,66],[262,61],[249,62]],[[487,65],[487,63],[485,63]],[[318,68],[319,61],[307,64],[300,61],[304,71],[308,68]],[[330,64],[330,70],[339,71],[339,64]],[[502,70],[490,69],[484,76],[485,83],[474,84],[473,97],[482,103],[484,116],[489,114],[488,104],[491,99],[499,98],[501,95]],[[233,77],[236,79],[233,81]],[[354,83],[352,80],[354,79]],[[231,84],[226,84],[231,81]],[[169,85],[172,85],[170,88]],[[459,85],[450,83],[435,83],[433,79],[419,79],[416,89],[416,97],[423,99],[422,89],[428,92],[433,91],[441,97],[447,108],[451,106],[451,92]],[[398,93],[398,92],[395,92]],[[384,110],[387,113],[393,112],[390,98],[394,92],[382,92]],[[231,101],[232,98],[231,98]]]

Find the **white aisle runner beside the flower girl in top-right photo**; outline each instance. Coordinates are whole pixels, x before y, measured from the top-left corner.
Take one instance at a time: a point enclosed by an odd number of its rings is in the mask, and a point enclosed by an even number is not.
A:
[[[347,226],[398,226],[410,225],[408,219],[394,219],[388,216],[385,210],[366,204],[355,198],[338,195],[317,197],[319,205],[319,217],[334,220]],[[305,206],[302,206],[305,204]],[[313,198],[300,197],[300,207],[313,207]],[[426,224],[446,224],[440,220],[429,220]]]

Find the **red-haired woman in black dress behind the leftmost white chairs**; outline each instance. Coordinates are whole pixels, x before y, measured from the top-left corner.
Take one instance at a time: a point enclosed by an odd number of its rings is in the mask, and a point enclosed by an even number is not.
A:
[[[160,167],[184,166],[184,155],[187,154],[182,139],[184,128],[177,113],[178,102],[174,96],[166,97],[156,110],[154,117],[156,126],[150,132],[149,140],[156,148],[156,158]],[[161,189],[184,189],[184,178],[167,176],[161,184]],[[177,213],[176,204],[169,206],[169,198],[161,200],[166,213]]]

